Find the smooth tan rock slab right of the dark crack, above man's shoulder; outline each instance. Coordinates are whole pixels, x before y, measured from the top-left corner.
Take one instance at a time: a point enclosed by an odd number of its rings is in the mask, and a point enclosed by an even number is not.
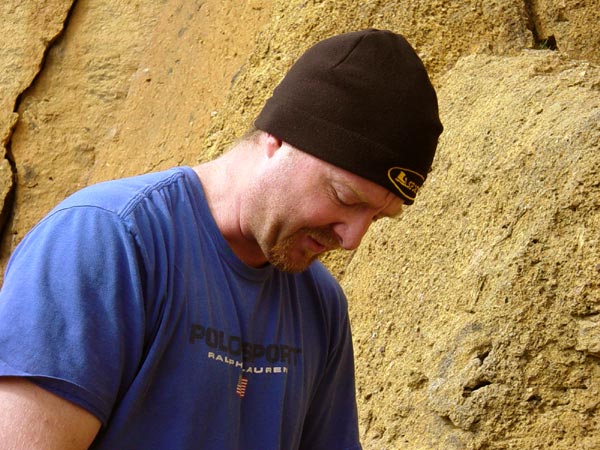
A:
[[[19,108],[11,142],[19,189],[5,258],[84,185],[202,159],[208,118],[268,13],[216,0],[77,2]],[[246,31],[232,32],[236,20]]]

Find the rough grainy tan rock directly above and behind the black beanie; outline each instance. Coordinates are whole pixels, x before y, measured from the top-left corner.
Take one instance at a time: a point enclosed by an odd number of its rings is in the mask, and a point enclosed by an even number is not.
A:
[[[363,28],[402,33],[435,77],[473,51],[511,54],[533,45],[523,2],[355,2],[279,0],[232,87],[224,112],[213,117],[206,147],[218,154],[242,134],[290,65],[315,42]]]

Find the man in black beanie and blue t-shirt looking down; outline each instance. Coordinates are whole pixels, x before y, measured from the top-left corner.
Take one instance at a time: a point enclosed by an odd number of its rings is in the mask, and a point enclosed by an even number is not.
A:
[[[347,305],[314,260],[423,184],[442,131],[399,35],[309,49],[195,168],[86,188],[0,293],[10,449],[359,449]]]

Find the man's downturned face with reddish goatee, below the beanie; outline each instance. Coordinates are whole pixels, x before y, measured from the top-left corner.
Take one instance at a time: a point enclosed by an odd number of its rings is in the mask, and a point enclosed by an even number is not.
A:
[[[371,223],[402,211],[387,189],[285,143],[271,159],[253,236],[281,270],[301,272],[327,251],[356,249]]]

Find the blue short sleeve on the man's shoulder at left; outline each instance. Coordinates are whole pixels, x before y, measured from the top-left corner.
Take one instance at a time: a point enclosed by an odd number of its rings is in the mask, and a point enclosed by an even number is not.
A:
[[[113,212],[57,210],[19,244],[0,291],[0,376],[24,376],[106,423],[143,353],[135,239]]]

